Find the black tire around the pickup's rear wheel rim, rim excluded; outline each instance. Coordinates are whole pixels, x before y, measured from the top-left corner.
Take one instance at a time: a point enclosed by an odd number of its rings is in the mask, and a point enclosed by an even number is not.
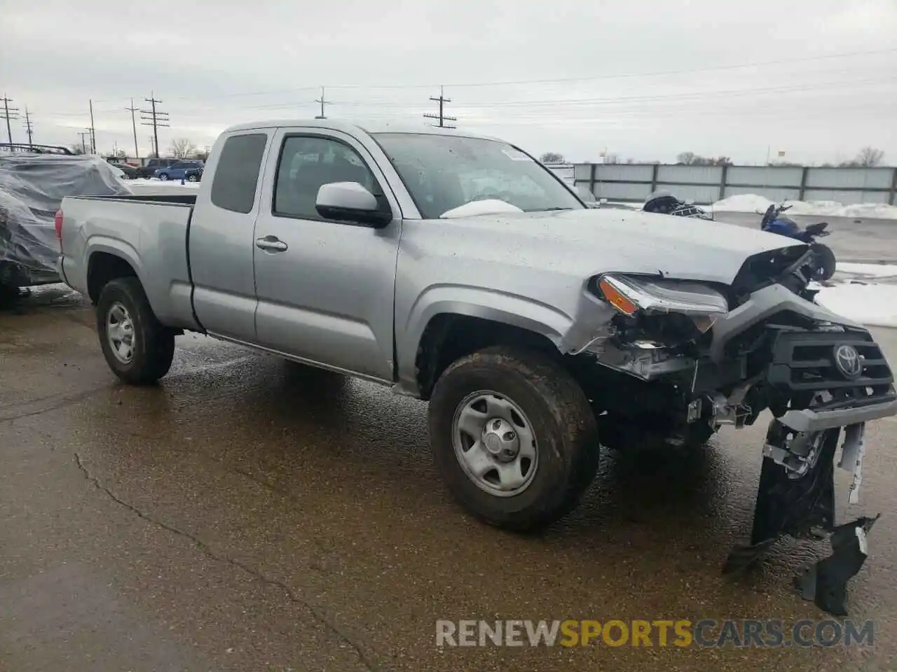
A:
[[[134,354],[127,363],[118,359],[109,343],[109,311],[117,303],[125,306],[133,323]],[[169,372],[174,357],[174,332],[156,319],[144,288],[135,277],[111,280],[102,289],[97,302],[97,333],[106,363],[125,383],[155,383]]]

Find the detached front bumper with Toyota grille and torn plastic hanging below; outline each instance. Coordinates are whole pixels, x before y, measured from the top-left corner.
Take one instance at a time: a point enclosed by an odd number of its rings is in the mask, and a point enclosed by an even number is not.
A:
[[[840,366],[839,353],[849,355],[842,365],[858,358],[858,366]],[[837,466],[852,474],[848,501],[856,504],[866,423],[897,415],[891,369],[868,332],[784,331],[773,344],[766,383],[792,406],[795,400],[813,402],[772,419],[750,544],[732,550],[724,573],[753,564],[782,536],[828,538],[832,556],[802,568],[796,585],[824,611],[844,616],[847,582],[866,560],[867,533],[878,517],[835,524],[835,458],[840,444]]]

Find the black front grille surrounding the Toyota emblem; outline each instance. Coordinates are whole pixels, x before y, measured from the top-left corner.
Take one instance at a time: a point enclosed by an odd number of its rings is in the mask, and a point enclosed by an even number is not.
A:
[[[850,378],[835,362],[842,345],[857,350],[862,373]],[[868,397],[887,393],[893,374],[881,349],[868,332],[782,331],[772,343],[767,377],[781,392],[849,392]]]

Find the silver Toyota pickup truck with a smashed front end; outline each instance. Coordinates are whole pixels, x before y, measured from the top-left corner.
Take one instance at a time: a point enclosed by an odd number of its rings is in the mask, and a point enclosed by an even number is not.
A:
[[[835,452],[843,437],[855,499],[893,375],[814,303],[795,241],[588,209],[507,142],[329,120],[234,126],[195,196],[66,198],[57,221],[59,271],[128,383],[165,375],[194,331],[391,385],[430,401],[451,493],[512,530],[577,504],[599,442],[701,444],[769,409],[751,543],[728,568],[816,528],[865,557],[871,521],[834,525]],[[842,608],[854,564],[810,568],[807,596]]]

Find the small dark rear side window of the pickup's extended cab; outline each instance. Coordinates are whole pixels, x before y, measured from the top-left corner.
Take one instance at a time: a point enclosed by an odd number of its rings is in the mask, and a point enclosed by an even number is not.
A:
[[[267,140],[266,134],[258,133],[233,135],[224,141],[218,167],[212,177],[214,205],[233,212],[252,211]]]

